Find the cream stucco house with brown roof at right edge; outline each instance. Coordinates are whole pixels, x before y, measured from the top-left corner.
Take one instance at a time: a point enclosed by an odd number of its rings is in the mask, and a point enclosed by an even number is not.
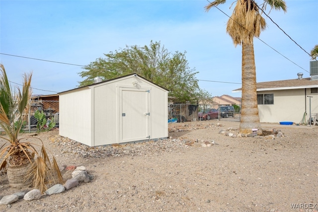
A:
[[[298,73],[292,80],[256,83],[256,88],[260,122],[304,123],[310,113],[318,113],[318,80],[313,73],[310,78]]]

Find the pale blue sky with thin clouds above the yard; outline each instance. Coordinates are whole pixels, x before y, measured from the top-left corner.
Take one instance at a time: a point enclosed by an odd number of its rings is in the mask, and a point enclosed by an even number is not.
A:
[[[231,15],[232,2],[218,8]],[[286,3],[286,13],[272,10],[269,16],[310,53],[318,44],[318,0]],[[229,17],[217,8],[205,12],[206,4],[207,0],[0,0],[0,63],[11,82],[21,84],[22,75],[32,72],[33,94],[56,94],[79,85],[80,66],[4,54],[84,66],[104,53],[153,40],[171,53],[186,51],[189,67],[199,72],[200,88],[212,96],[240,97],[232,91],[240,88],[241,46],[235,47],[226,33]],[[257,82],[296,79],[300,72],[310,77],[309,55],[265,20],[261,40],[254,39]]]

